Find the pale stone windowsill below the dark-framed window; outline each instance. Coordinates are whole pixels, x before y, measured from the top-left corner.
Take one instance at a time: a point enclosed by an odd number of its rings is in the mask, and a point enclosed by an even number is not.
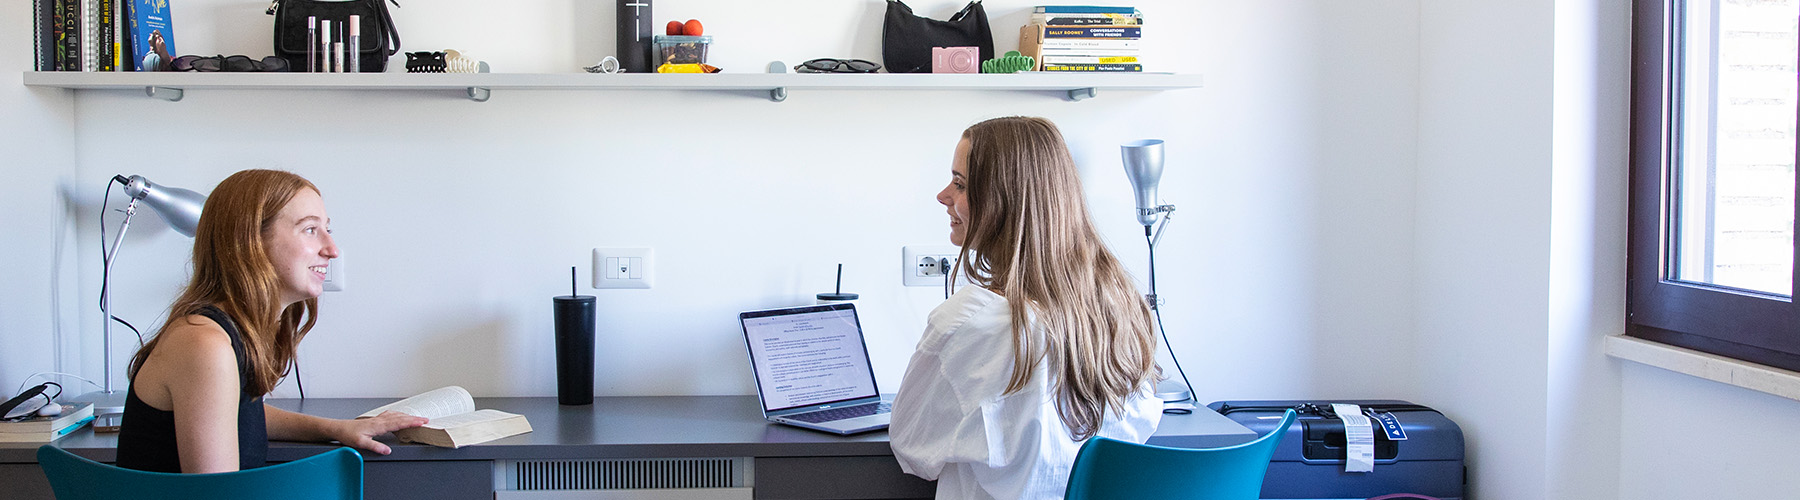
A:
[[[1800,401],[1800,372],[1624,335],[1606,338],[1606,354]]]

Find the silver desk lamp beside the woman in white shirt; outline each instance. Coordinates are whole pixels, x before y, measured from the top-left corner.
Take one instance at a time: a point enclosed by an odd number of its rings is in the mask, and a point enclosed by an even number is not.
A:
[[[1175,205],[1156,203],[1156,185],[1163,182],[1163,140],[1147,138],[1120,144],[1120,156],[1125,162],[1125,176],[1130,178],[1130,187],[1138,194],[1138,223],[1143,225],[1143,237],[1150,245],[1150,293],[1145,295],[1145,300],[1150,302],[1150,313],[1156,315],[1157,331],[1163,331],[1163,345],[1168,347],[1168,360],[1175,362],[1175,372],[1181,374],[1181,387],[1157,387],[1156,396],[1163,399],[1165,410],[1181,412],[1193,403],[1193,385],[1188,383],[1188,374],[1181,371],[1175,347],[1168,344],[1168,331],[1163,329],[1163,311],[1157,309],[1163,300],[1156,297],[1156,245],[1163,241],[1168,214],[1175,210]],[[1152,227],[1156,230],[1150,230]],[[1188,405],[1174,405],[1181,401],[1188,401]]]

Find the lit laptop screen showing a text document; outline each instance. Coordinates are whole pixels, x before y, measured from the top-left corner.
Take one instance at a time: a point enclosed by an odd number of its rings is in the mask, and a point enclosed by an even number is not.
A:
[[[740,313],[763,410],[880,396],[851,304]]]

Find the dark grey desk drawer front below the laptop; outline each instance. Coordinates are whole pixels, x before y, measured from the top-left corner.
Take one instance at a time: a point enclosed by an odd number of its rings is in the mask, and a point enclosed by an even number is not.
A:
[[[756,498],[932,498],[938,484],[900,471],[893,455],[756,459]]]

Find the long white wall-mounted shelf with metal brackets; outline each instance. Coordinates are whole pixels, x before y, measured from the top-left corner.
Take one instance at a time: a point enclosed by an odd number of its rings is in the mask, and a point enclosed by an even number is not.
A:
[[[1069,101],[1100,90],[1199,88],[1197,74],[194,74],[194,72],[25,72],[29,86],[144,90],[182,101],[187,90],[454,90],[488,101],[493,90],[1035,90]]]

